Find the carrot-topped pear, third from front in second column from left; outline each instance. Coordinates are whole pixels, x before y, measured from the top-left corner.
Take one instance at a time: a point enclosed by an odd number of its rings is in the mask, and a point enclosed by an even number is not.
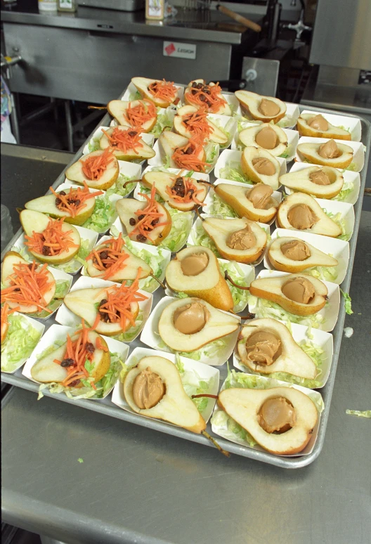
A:
[[[110,238],[94,247],[86,257],[86,264],[89,276],[117,282],[134,280],[138,268],[141,268],[139,279],[148,278],[152,273],[152,268],[143,259],[127,249],[122,233],[118,238]]]

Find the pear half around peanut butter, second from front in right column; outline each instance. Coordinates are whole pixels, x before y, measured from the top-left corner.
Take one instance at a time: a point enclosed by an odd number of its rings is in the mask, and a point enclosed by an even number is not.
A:
[[[254,361],[250,361],[249,354],[246,349],[246,340],[256,332],[270,332],[278,340],[280,340],[280,355],[273,361],[271,365],[259,365]],[[254,372],[259,372],[263,375],[272,374],[275,372],[285,372],[294,376],[304,377],[308,380],[314,380],[317,375],[317,368],[305,351],[295,342],[291,332],[286,325],[271,318],[254,319],[245,324],[238,337],[237,351],[244,365]]]

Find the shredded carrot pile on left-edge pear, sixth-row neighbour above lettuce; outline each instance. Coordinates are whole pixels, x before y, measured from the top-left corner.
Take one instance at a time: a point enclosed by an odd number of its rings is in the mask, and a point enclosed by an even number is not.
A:
[[[44,295],[53,285],[48,278],[46,263],[42,266],[36,261],[15,264],[13,274],[6,281],[11,285],[1,290],[1,304],[8,302],[21,306],[37,306],[37,311],[46,310],[51,313],[46,308],[44,299]]]

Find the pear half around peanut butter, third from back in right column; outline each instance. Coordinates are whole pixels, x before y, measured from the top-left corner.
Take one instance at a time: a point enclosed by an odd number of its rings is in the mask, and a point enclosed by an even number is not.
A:
[[[311,174],[318,171],[323,171],[326,174],[330,179],[330,185],[318,185],[318,183],[311,181]],[[292,190],[313,195],[317,198],[328,199],[339,195],[344,185],[344,177],[336,168],[313,166],[283,174],[283,176],[280,176],[280,183]]]

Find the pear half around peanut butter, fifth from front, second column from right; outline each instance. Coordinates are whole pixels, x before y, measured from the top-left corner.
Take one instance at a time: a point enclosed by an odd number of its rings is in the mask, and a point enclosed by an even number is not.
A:
[[[247,217],[251,221],[260,221],[260,223],[268,223],[277,213],[277,200],[271,198],[267,209],[256,208],[247,197],[249,190],[251,190],[251,187],[246,188],[240,185],[231,185],[230,183],[219,183],[219,185],[214,186],[215,193],[221,197],[221,200],[233,207],[240,217]]]

